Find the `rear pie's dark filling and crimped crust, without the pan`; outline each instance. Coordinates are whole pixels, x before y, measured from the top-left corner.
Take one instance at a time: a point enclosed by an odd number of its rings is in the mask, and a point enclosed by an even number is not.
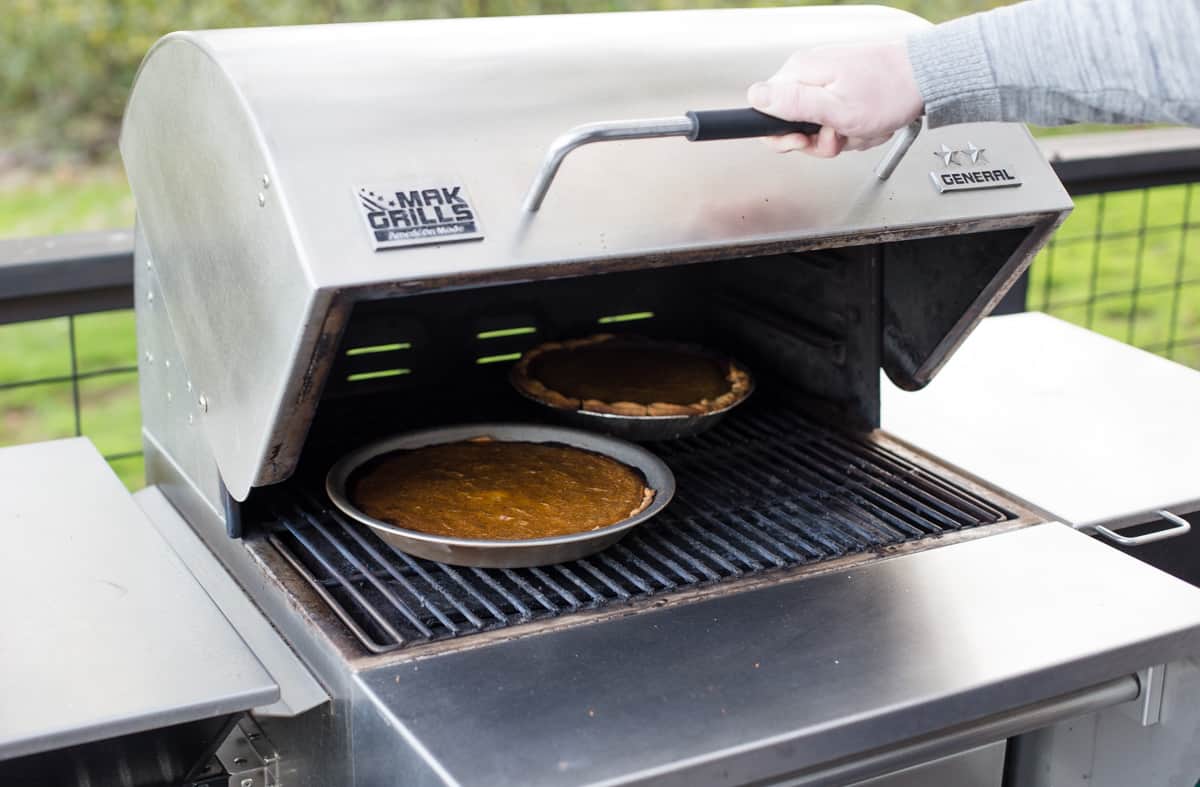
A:
[[[712,413],[750,391],[749,374],[732,361],[607,334],[534,348],[514,367],[512,382],[552,407],[619,415]]]

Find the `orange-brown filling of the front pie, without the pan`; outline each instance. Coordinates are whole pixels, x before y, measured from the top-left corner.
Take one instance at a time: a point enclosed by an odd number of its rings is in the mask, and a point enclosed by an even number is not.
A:
[[[642,475],[558,443],[482,438],[394,451],[350,482],[376,519],[461,539],[541,539],[595,530],[650,504]]]

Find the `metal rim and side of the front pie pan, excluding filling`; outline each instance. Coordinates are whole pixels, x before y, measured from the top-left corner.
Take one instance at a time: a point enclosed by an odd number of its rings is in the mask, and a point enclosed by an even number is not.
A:
[[[398,528],[367,516],[349,498],[347,482],[355,470],[377,456],[427,445],[460,443],[479,437],[505,443],[558,443],[607,456],[641,473],[646,486],[654,491],[654,499],[635,516],[596,530],[546,539],[502,540],[456,539]],[[674,494],[674,474],[671,473],[671,468],[638,445],[594,432],[535,423],[468,423],[396,434],[350,451],[338,459],[325,476],[325,491],[334,505],[374,530],[380,539],[397,549],[439,563],[487,569],[548,565],[599,552],[666,507]]]

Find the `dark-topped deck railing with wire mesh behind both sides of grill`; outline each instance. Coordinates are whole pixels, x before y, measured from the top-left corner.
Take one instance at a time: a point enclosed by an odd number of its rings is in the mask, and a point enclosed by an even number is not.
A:
[[[1200,224],[1200,194],[1194,193],[1200,131],[1114,132],[1050,138],[1042,145],[1076,198],[1076,210],[1002,310],[1045,311],[1200,368],[1200,233],[1193,232]],[[24,437],[94,433],[84,388],[131,380],[137,358],[130,347],[116,364],[80,362],[80,318],[130,308],[132,246],[126,230],[0,241],[0,356],[8,352],[4,331],[13,324],[61,320],[66,344],[66,365],[58,373],[0,376],[0,427],[8,415],[6,394],[53,389],[60,391],[60,405],[72,408],[73,421],[59,419],[56,432]],[[0,365],[0,372],[8,366]],[[61,395],[64,388],[68,396]],[[122,390],[136,399],[136,385]],[[106,453],[118,464],[140,456],[139,423],[131,419],[122,428],[127,440]],[[5,435],[0,428],[0,444]],[[126,480],[136,482],[131,474]]]

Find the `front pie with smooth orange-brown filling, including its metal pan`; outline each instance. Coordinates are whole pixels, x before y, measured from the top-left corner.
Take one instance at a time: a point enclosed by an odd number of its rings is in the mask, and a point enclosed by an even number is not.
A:
[[[330,469],[326,492],[397,549],[511,569],[616,542],[667,505],[674,476],[649,451],[611,437],[479,423],[360,447]]]

